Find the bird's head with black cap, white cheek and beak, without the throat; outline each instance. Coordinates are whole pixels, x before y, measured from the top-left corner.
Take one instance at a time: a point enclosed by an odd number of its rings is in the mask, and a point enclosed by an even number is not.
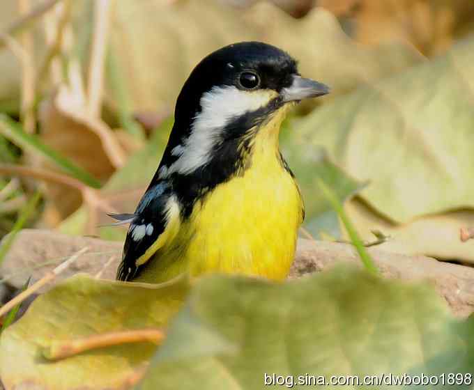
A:
[[[161,165],[181,159],[174,171],[190,173],[208,161],[216,142],[236,139],[286,103],[326,93],[324,84],[300,77],[296,61],[277,47],[263,42],[222,47],[185,82]]]

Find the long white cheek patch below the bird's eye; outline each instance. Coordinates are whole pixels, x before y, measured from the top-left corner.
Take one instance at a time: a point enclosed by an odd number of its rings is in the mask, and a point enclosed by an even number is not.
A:
[[[266,106],[275,92],[242,91],[236,86],[214,87],[202,95],[201,112],[194,118],[190,136],[171,153],[180,157],[169,166],[168,174],[187,174],[211,158],[211,150],[220,141],[220,130],[233,118]]]

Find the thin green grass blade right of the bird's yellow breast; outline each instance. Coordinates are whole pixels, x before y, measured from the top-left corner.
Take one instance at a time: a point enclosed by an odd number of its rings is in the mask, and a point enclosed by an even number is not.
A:
[[[321,189],[321,192],[323,192],[324,196],[328,198],[328,201],[331,203],[332,208],[334,208],[334,210],[337,212],[339,218],[342,220],[342,223],[346,227],[347,233],[349,233],[349,237],[351,237],[351,242],[359,253],[360,260],[362,260],[362,264],[365,266],[366,270],[374,275],[379,274],[379,270],[374,264],[374,260],[372,260],[369,253],[367,252],[367,249],[362,243],[362,240],[360,240],[357,231],[355,230],[349,217],[347,217],[347,214],[344,211],[342,204],[339,202],[339,199],[337,199],[336,194],[332,191],[330,187],[328,187],[328,185],[326,185],[323,180],[321,180],[321,178],[318,178],[317,182],[319,185],[319,189]]]

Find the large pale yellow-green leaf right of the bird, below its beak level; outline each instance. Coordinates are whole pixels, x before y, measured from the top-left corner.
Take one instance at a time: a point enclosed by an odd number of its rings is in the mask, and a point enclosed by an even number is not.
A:
[[[473,208],[473,64],[474,40],[459,42],[295,120],[293,137],[369,181],[360,196],[392,221]]]

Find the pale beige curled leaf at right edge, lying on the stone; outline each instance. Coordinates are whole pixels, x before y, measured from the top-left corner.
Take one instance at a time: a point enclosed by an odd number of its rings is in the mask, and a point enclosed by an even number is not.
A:
[[[374,230],[392,237],[377,246],[384,251],[474,263],[474,241],[461,242],[459,237],[460,228],[474,226],[473,210],[444,212],[418,217],[406,224],[392,224],[358,198],[346,203],[345,209],[362,240],[373,240]],[[341,228],[344,230],[344,226]]]

